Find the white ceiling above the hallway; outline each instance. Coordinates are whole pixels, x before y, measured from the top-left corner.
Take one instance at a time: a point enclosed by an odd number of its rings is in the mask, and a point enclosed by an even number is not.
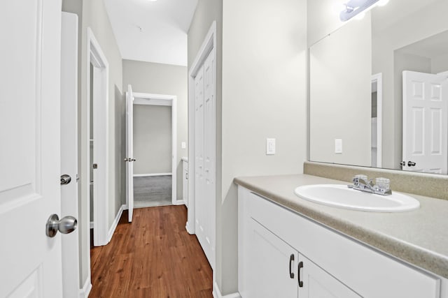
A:
[[[198,0],[104,0],[123,59],[187,66]]]

